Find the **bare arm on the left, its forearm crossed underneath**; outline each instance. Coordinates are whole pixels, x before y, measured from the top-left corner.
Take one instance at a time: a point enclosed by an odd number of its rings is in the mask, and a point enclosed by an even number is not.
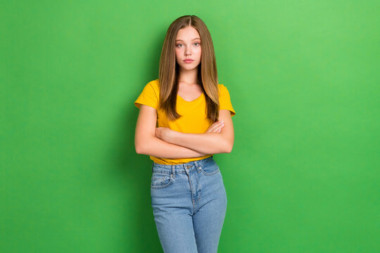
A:
[[[138,154],[161,158],[191,158],[208,154],[157,138],[155,136],[156,122],[157,110],[148,105],[140,105],[134,134],[134,147]]]

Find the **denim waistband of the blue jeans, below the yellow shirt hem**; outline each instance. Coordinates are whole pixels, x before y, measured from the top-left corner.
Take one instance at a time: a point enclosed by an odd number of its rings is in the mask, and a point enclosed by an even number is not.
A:
[[[196,170],[208,162],[212,162],[213,160],[213,156],[210,156],[201,160],[186,162],[183,164],[158,164],[156,162],[153,162],[152,172],[157,171],[165,174],[185,173],[186,169],[187,171]]]

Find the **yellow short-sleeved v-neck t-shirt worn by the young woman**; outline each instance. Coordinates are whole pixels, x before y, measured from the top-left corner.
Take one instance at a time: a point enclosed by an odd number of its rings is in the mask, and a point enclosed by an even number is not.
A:
[[[227,87],[223,84],[218,84],[219,88],[219,103],[220,110],[229,110],[231,115],[235,115],[234,108],[232,108],[231,99],[229,97],[229,91]],[[160,98],[160,82],[158,79],[148,82],[141,92],[140,96],[134,101],[134,105],[140,108],[140,105],[148,105],[157,110],[157,127],[168,127],[172,130],[179,131],[182,133],[191,134],[203,134],[208,127],[210,127],[210,120],[207,118],[205,107],[205,94],[202,93],[195,100],[186,101],[181,96],[177,95],[177,106],[176,110],[179,115],[179,119],[175,121],[169,121],[165,117],[165,112],[158,108]],[[153,162],[158,164],[182,164],[186,162],[201,160],[212,155],[204,155],[202,157],[191,157],[191,158],[160,158],[149,156]]]

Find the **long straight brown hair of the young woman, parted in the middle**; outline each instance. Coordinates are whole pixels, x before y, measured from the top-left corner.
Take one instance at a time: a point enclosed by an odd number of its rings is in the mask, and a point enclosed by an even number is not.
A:
[[[183,15],[173,21],[167,29],[160,56],[158,77],[160,83],[159,106],[165,111],[170,120],[175,120],[182,116],[175,110],[179,74],[179,65],[175,57],[175,39],[178,30],[188,26],[194,27],[201,37],[202,53],[201,63],[198,65],[198,84],[201,84],[203,93],[205,93],[207,117],[211,122],[216,122],[219,118],[219,93],[213,40],[203,20],[196,15]]]

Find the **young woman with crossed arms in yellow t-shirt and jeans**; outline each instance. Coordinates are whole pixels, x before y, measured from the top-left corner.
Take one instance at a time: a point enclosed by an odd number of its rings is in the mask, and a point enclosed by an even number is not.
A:
[[[196,15],[172,22],[159,78],[134,105],[134,145],[153,160],[151,205],[164,252],[217,252],[227,195],[213,154],[231,152],[235,111],[218,84],[210,32]]]

